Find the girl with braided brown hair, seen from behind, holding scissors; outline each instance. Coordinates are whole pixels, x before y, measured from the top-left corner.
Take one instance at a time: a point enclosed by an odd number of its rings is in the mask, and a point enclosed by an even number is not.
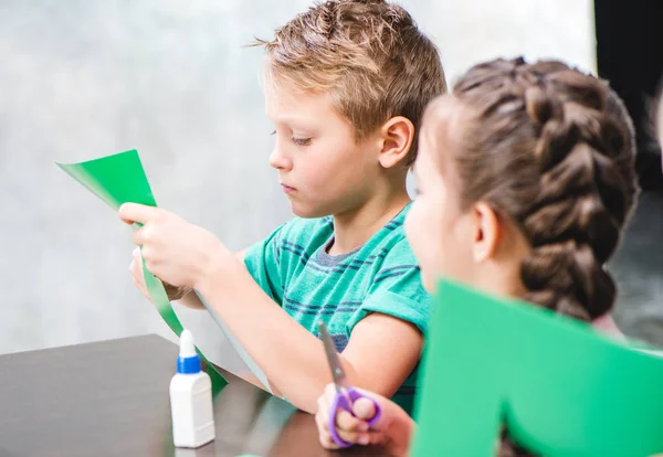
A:
[[[414,164],[420,190],[408,240],[425,288],[440,276],[524,299],[596,327],[615,285],[604,265],[638,196],[633,128],[608,85],[560,62],[496,60],[471,68],[428,106]],[[414,424],[397,405],[341,411],[347,442],[406,455]],[[333,386],[318,401],[323,446]],[[504,438],[501,456],[528,455]]]

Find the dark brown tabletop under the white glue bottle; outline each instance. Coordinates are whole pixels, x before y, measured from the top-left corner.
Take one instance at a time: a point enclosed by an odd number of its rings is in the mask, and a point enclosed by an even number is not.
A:
[[[312,415],[224,371],[215,442],[175,448],[168,386],[177,353],[145,336],[0,355],[0,456],[386,455],[323,449]]]

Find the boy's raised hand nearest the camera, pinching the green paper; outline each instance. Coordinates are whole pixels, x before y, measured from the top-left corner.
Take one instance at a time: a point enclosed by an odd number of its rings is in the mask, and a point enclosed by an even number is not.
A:
[[[143,224],[134,243],[143,246],[147,269],[164,283],[196,288],[219,265],[236,263],[214,235],[160,208],[125,203],[118,213],[127,224]]]

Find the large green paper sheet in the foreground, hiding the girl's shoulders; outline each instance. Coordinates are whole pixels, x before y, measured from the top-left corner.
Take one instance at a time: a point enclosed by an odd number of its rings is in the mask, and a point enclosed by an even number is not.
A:
[[[440,283],[415,457],[494,456],[502,425],[548,457],[663,453],[663,358],[516,300]]]

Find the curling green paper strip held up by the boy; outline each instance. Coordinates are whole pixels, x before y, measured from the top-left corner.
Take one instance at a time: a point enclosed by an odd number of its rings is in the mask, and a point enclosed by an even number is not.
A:
[[[80,163],[66,164],[56,162],[56,164],[115,211],[117,211],[119,206],[127,202],[140,203],[150,206],[157,205],[147,180],[147,176],[140,162],[138,151],[135,149]],[[139,226],[139,224],[134,224],[135,230]],[[175,332],[175,334],[179,337],[182,332],[182,325],[180,323],[175,310],[172,309],[172,306],[170,305],[170,301],[168,300],[168,295],[164,289],[164,285],[158,278],[147,270],[145,263],[143,264],[143,270],[145,273],[145,283],[147,285],[147,289],[152,302],[159,311],[159,315],[168,325],[168,327]],[[235,351],[238,351],[244,363],[269,391],[270,384],[264,372],[262,372],[257,364],[249,357],[239,341],[236,341],[234,336],[223,325],[221,319],[208,306],[202,297],[200,295],[198,296],[212,318],[214,318],[215,322],[219,325],[219,327],[221,327],[221,330],[229,339]],[[208,373],[212,379],[213,392],[219,393],[223,386],[228,384],[228,381],[221,375],[214,365],[210,363],[202,352],[198,350],[198,348],[196,350],[200,358],[208,365]]]

